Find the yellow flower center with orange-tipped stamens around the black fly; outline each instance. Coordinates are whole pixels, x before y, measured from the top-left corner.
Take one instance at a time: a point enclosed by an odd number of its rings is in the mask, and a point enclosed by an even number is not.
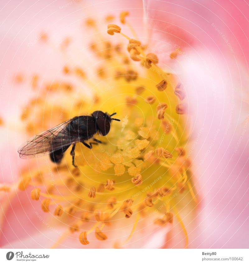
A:
[[[122,23],[128,23],[127,15],[122,12]],[[96,24],[91,23],[93,30],[97,30]],[[42,95],[32,100],[22,119],[31,133],[44,130],[42,124],[35,123],[33,127],[34,118],[44,120],[43,126],[49,128],[51,116],[62,122],[96,110],[110,114],[115,111],[121,122],[113,121],[107,136],[96,135],[103,143],[93,145],[91,150],[76,144],[77,168],[72,166],[70,150],[57,166],[45,158],[44,169],[24,173],[19,188],[33,185],[31,198],[41,200],[42,210],[54,212],[55,217],[69,225],[70,232],[78,232],[83,245],[89,244],[87,237],[91,232],[95,232],[96,239],[106,240],[106,225],[114,221],[125,225],[127,218],[133,217],[128,239],[140,218],[157,225],[170,225],[176,220],[183,228],[187,246],[178,201],[183,192],[190,193],[194,201],[196,198],[186,157],[184,88],[176,76],[157,66],[160,58],[147,52],[146,44],[135,37],[130,39],[117,25],[108,25],[107,32],[114,38],[116,34],[123,35],[126,42],[117,44],[114,40],[112,44],[98,34],[100,39],[90,47],[92,56],[99,59],[94,76],[87,76],[86,63],[82,68],[73,64],[63,68],[66,76],[80,80],[89,92],[77,90],[76,95],[70,82],[49,83],[45,92],[59,92],[61,99],[45,102]],[[65,46],[64,41],[62,45]],[[39,81],[39,76],[36,79]],[[91,225],[87,231],[86,225]]]

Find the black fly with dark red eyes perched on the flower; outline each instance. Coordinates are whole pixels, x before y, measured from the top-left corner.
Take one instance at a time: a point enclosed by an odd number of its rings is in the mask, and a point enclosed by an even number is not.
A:
[[[73,166],[76,167],[74,164],[75,144],[81,142],[87,148],[92,149],[92,144],[102,143],[93,136],[97,132],[106,136],[110,131],[111,121],[120,121],[120,119],[111,118],[115,114],[109,115],[102,111],[95,111],[89,116],[82,115],[71,118],[30,138],[18,149],[20,158],[33,158],[49,154],[54,163],[60,163],[64,152],[73,145],[70,154],[72,155]],[[90,139],[96,143],[89,143],[88,145],[85,141]]]

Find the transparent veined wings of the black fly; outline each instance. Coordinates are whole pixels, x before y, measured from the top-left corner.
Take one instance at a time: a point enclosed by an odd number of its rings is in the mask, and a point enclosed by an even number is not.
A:
[[[70,137],[66,129],[72,118],[53,127],[49,130],[41,132],[31,137],[24,145],[18,149],[20,158],[33,158],[49,154],[52,151],[59,150],[64,146],[68,146],[77,142],[76,137]]]

